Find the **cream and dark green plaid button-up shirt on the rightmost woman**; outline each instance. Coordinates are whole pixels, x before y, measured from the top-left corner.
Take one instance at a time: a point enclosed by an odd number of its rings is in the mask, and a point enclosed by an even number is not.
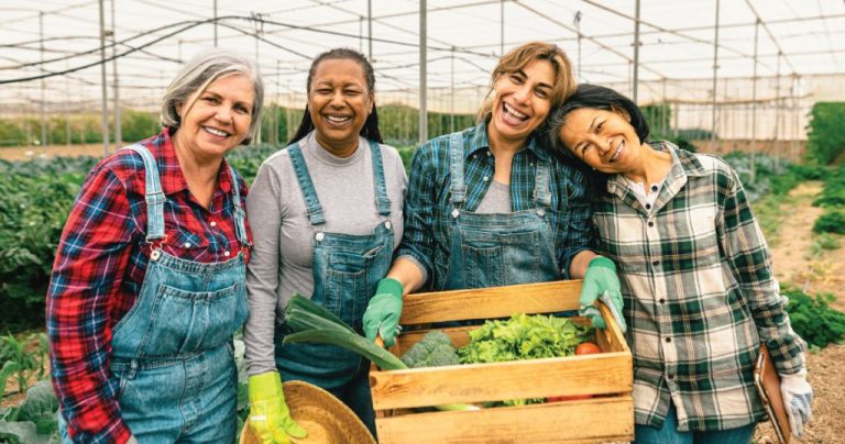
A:
[[[759,344],[780,374],[803,367],[771,258],[743,185],[724,160],[668,142],[672,166],[652,208],[621,176],[594,202],[599,251],[613,259],[634,354],[637,424],[662,425],[669,402],[679,430],[757,422]]]

